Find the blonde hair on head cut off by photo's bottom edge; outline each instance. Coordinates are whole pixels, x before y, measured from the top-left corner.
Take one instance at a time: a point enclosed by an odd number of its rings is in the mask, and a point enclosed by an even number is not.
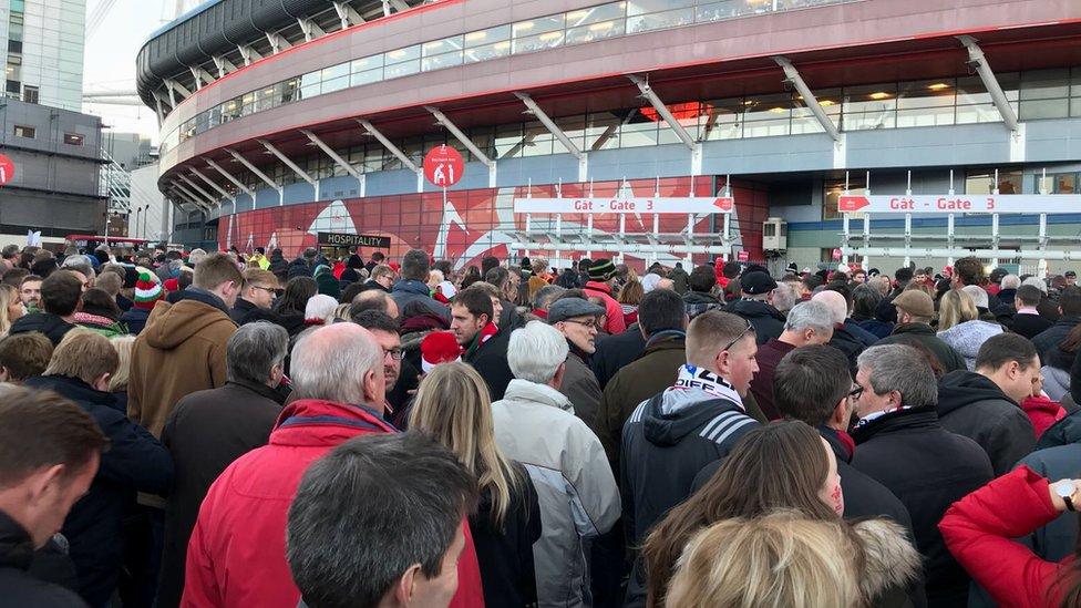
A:
[[[863,547],[841,519],[779,511],[719,522],[687,544],[665,606],[853,608],[866,604],[858,581]]]

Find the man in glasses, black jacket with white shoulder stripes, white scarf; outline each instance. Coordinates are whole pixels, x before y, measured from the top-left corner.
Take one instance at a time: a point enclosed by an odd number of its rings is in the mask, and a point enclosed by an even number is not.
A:
[[[687,363],[673,385],[644,401],[624,425],[619,475],[628,547],[641,546],[653,524],[690,495],[696,475],[760,426],[743,404],[759,370],[754,326],[711,310],[688,326],[686,344]],[[645,599],[646,577],[636,563],[627,605]]]

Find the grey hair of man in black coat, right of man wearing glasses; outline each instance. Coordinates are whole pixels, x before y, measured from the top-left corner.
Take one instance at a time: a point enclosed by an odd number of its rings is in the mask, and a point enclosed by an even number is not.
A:
[[[927,357],[907,344],[871,347],[859,354],[861,370],[867,370],[877,394],[900,393],[900,403],[920,408],[938,403],[938,383]]]

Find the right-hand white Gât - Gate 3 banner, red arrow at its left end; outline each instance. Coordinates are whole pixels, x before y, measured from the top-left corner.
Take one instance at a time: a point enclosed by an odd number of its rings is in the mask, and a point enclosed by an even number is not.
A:
[[[872,214],[1072,214],[1081,213],[1073,194],[916,194],[841,196],[841,213]]]

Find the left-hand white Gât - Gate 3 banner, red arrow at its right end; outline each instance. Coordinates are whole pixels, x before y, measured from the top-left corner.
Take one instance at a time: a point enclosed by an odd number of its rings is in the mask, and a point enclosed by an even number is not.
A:
[[[515,198],[516,214],[730,214],[730,196],[656,198]]]

